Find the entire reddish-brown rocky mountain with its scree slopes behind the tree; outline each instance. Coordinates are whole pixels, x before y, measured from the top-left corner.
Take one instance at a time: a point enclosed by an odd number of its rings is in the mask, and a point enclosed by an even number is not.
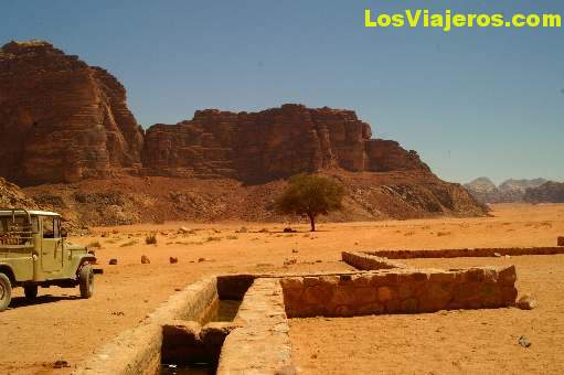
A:
[[[352,110],[206,109],[145,132],[114,76],[47,42],[0,50],[0,176],[85,224],[279,219],[280,179],[298,172],[345,186],[345,211],[331,219],[487,213],[417,152],[372,138]]]

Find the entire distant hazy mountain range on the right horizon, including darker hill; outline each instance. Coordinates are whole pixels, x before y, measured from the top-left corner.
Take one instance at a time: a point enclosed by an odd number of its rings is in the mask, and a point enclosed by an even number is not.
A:
[[[490,179],[478,178],[465,184],[465,188],[483,203],[564,202],[561,196],[561,192],[564,192],[564,183],[545,179],[510,179],[496,186]]]

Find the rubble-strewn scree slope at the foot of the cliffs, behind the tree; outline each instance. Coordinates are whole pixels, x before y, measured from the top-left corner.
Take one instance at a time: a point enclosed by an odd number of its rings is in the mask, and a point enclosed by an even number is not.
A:
[[[348,172],[323,170],[345,189],[344,208],[333,222],[438,216],[482,216],[487,208],[458,184],[421,171]],[[121,176],[25,188],[42,207],[79,225],[160,223],[162,221],[283,222],[274,201],[285,180],[248,185],[233,179]],[[297,217],[292,218],[292,221]]]

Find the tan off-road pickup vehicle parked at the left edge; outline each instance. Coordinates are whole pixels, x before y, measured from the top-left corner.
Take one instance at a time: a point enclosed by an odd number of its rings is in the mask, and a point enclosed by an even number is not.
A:
[[[54,212],[0,208],[0,311],[10,304],[12,288],[23,287],[25,298],[38,287],[79,286],[91,298],[96,258],[84,246],[71,245]]]

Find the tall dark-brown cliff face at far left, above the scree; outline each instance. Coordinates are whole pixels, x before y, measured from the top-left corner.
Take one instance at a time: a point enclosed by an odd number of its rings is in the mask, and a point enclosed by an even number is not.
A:
[[[139,167],[142,129],[124,86],[46,42],[0,50],[0,175],[72,182]]]

